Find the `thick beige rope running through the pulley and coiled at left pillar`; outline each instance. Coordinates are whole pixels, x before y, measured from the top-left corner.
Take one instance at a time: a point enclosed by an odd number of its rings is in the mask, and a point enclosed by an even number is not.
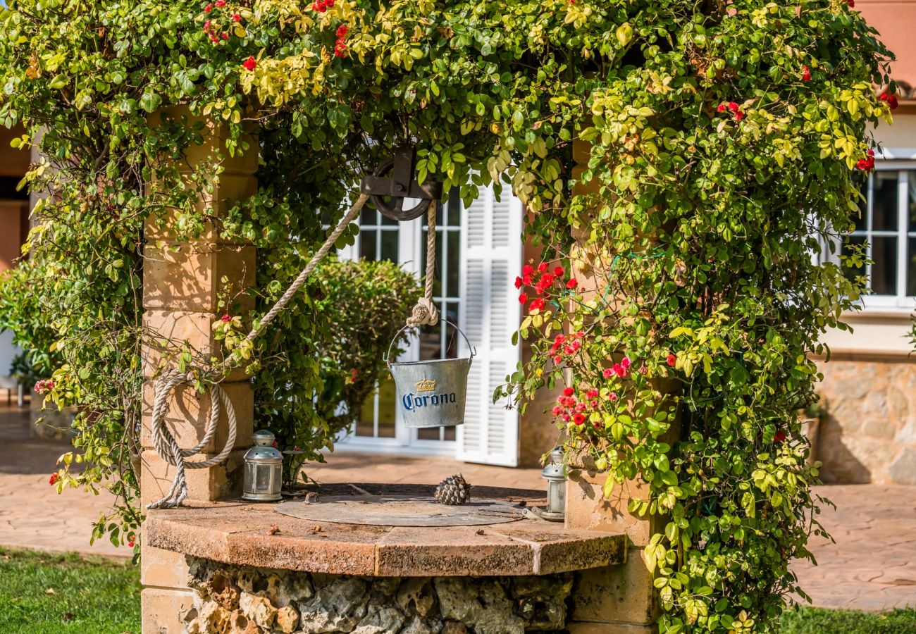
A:
[[[343,233],[344,229],[354,221],[356,215],[362,210],[365,202],[369,199],[368,194],[361,194],[353,206],[350,207],[350,211],[344,215],[344,218],[334,227],[330,235],[324,241],[324,244],[309,260],[309,263],[305,265],[305,268],[299,274],[292,284],[289,285],[289,289],[283,293],[283,296],[273,305],[273,307],[267,311],[267,314],[261,318],[260,322],[257,322],[256,326],[252,328],[251,332],[245,335],[245,341],[254,342],[256,337],[263,333],[267,326],[273,322],[277,315],[286,307],[289,303],[289,300],[292,299],[293,295],[296,294],[298,290],[302,288],[302,285],[305,284],[305,280],[309,279],[311,272],[318,266],[318,263],[325,257],[328,252],[334,246],[334,243],[337,242]],[[429,223],[429,235],[427,236],[426,241],[426,286],[425,292],[420,301],[417,302],[417,305],[414,306],[413,311],[411,312],[410,317],[407,320],[409,326],[420,326],[423,324],[435,325],[439,322],[439,311],[436,309],[435,303],[432,301],[432,283],[433,278],[435,277],[435,259],[436,259],[436,202],[431,202],[429,207],[429,213],[427,214],[427,221]],[[235,357],[235,354],[229,355],[226,357],[224,362],[217,366],[212,376],[219,375],[223,373],[226,369],[231,369],[236,366],[238,359]],[[221,464],[226,457],[232,452],[233,447],[235,446],[235,435],[238,432],[238,425],[235,420],[235,409],[233,407],[232,401],[229,399],[228,395],[225,393],[225,390],[220,385],[219,381],[212,381],[209,386],[210,393],[210,418],[207,421],[206,430],[203,433],[203,438],[197,444],[195,444],[190,449],[181,449],[178,443],[175,440],[174,435],[169,432],[168,427],[165,424],[166,413],[169,410],[169,393],[174,388],[178,387],[182,383],[192,384],[195,380],[194,371],[191,372],[180,372],[177,369],[169,370],[165,372],[156,381],[156,398],[153,401],[153,410],[152,410],[152,436],[153,436],[153,446],[156,448],[156,452],[162,456],[162,458],[175,467],[175,477],[172,480],[172,484],[169,487],[169,492],[162,497],[162,499],[157,500],[147,504],[147,508],[178,508],[186,497],[188,497],[188,483],[185,479],[184,470],[185,469],[204,469],[207,467],[215,466]],[[226,410],[226,421],[228,424],[228,435],[226,437],[226,442],[223,449],[219,454],[214,455],[212,458],[207,460],[202,460],[199,462],[187,462],[185,458],[189,458],[194,454],[198,454],[202,451],[204,447],[210,444],[213,441],[213,438],[216,435],[217,423],[220,420],[220,414],[222,408]]]

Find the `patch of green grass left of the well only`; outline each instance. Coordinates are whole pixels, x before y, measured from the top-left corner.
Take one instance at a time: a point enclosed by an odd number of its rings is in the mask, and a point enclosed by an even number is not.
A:
[[[139,634],[140,574],[130,563],[0,547],[0,632]]]

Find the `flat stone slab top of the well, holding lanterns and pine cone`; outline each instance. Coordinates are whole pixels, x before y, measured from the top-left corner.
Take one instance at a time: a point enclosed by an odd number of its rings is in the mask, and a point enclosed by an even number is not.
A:
[[[474,486],[472,502],[498,509],[493,519],[501,523],[405,526],[397,519],[376,523],[377,517],[373,523],[353,523],[340,512],[334,517],[333,505],[322,507],[350,496],[354,504],[341,508],[358,505],[366,517],[370,511],[377,516],[390,504],[384,499],[422,499],[431,493],[432,487],[423,485],[325,485],[319,500],[309,505],[224,501],[151,510],[145,537],[150,546],[222,563],[364,576],[553,574],[625,560],[623,535],[569,530],[562,523],[527,518],[525,505],[543,503],[539,491]],[[375,509],[371,497],[379,498]],[[295,510],[294,504],[308,506],[308,517],[278,512],[284,505]],[[431,516],[443,512],[442,505],[428,506]],[[315,519],[322,518],[322,508],[327,509],[323,519]],[[509,520],[507,512],[513,513]]]

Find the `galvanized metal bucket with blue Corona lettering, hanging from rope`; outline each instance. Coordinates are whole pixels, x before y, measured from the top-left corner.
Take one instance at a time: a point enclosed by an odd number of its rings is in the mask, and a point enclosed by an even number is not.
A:
[[[411,429],[449,427],[464,423],[467,373],[476,351],[458,326],[452,322],[446,323],[464,337],[471,351],[470,356],[391,363],[391,348],[408,326],[401,328],[388,345],[386,361],[398,387],[397,407],[403,416],[404,425]]]

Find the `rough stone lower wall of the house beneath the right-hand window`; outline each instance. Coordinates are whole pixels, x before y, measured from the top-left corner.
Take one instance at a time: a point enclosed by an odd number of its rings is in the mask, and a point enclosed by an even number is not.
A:
[[[823,481],[916,485],[916,363],[834,357],[820,368]]]

